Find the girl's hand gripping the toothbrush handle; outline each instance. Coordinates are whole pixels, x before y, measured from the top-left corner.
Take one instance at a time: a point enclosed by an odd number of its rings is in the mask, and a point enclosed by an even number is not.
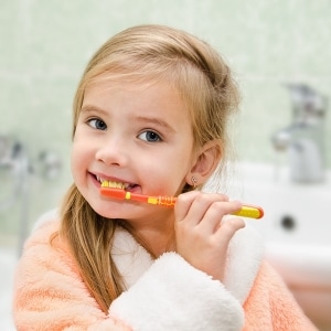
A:
[[[239,217],[222,221],[242,203],[223,194],[197,191],[178,196],[175,214],[177,252],[193,267],[223,280],[228,243],[245,223]]]

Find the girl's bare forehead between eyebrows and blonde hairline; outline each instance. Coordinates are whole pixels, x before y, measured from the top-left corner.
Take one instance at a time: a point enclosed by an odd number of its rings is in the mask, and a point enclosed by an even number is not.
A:
[[[191,126],[186,103],[173,82],[135,79],[126,75],[102,74],[85,88],[83,108],[86,105],[104,110],[131,111],[137,116],[159,116],[170,121]]]

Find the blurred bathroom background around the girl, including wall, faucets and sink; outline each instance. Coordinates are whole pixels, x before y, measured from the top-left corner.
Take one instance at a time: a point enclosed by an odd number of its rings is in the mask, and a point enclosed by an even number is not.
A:
[[[242,105],[227,193],[264,209],[247,224],[265,238],[266,258],[319,330],[331,330],[329,0],[4,0],[0,17],[1,330],[14,330],[24,239],[72,181],[71,107],[85,64],[141,23],[190,31],[234,70]]]

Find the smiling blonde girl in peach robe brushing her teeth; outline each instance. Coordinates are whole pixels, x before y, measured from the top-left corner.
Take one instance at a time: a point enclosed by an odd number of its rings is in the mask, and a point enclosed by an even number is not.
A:
[[[100,47],[74,102],[74,184],[18,266],[18,330],[316,330],[228,216],[241,202],[201,190],[237,103],[227,65],[185,32],[136,26]],[[177,203],[106,197],[103,182]]]

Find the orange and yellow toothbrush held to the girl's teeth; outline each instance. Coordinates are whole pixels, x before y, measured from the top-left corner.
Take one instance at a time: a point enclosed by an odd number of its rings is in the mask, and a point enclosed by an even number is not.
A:
[[[173,207],[177,200],[174,196],[149,196],[143,194],[131,193],[122,189],[109,188],[107,183],[102,184],[100,194],[104,196],[119,200],[132,200],[168,207]],[[249,218],[261,218],[264,216],[264,211],[259,206],[245,204],[239,211],[232,213],[232,215]]]

